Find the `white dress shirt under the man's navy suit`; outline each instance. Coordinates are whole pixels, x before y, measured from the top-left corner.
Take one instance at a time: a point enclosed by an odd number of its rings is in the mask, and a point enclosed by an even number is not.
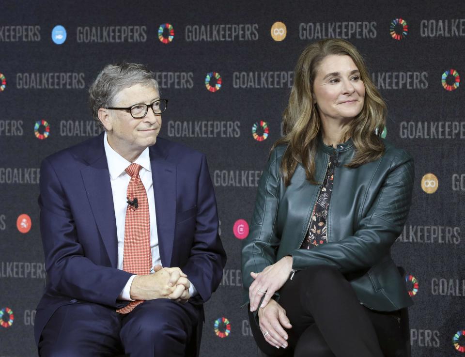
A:
[[[124,225],[126,221],[127,209],[127,186],[131,177],[126,173],[126,168],[132,164],[127,161],[123,156],[119,155],[109,145],[107,133],[104,137],[105,155],[107,156],[108,170],[110,174],[111,191],[113,194],[113,204],[115,208],[116,219],[116,234],[118,236],[118,269],[123,270],[124,258]],[[152,167],[150,165],[149,148],[146,148],[134,161],[142,168],[139,171],[140,180],[147,192],[147,199],[149,202],[149,217],[150,217],[150,250],[152,251],[152,268],[156,264],[161,264],[160,251],[158,248],[158,233],[156,230],[156,216],[155,216],[155,199],[154,199],[154,185],[152,181]],[[133,275],[129,278],[119,298],[122,300],[132,300],[130,297],[130,288],[132,280],[136,276]],[[193,296],[197,291],[194,286],[190,285],[189,294]]]

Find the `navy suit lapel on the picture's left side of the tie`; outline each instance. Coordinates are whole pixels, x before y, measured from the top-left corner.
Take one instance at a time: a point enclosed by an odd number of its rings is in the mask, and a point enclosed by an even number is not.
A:
[[[118,266],[118,236],[103,133],[89,145],[86,156],[89,165],[81,170],[82,180],[111,266],[116,268]]]

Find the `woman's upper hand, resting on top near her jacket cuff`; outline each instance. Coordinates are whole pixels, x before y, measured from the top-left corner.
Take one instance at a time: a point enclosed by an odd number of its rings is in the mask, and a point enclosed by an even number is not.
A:
[[[250,272],[250,276],[255,281],[248,289],[248,297],[250,300],[250,311],[255,311],[258,304],[263,298],[261,308],[264,308],[270,301],[273,294],[281,289],[286,280],[289,278],[289,273],[292,269],[292,257],[283,257],[278,262],[268,265],[261,273]]]

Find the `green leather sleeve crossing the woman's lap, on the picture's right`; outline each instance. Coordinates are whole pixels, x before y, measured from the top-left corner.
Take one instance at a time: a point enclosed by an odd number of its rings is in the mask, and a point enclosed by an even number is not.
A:
[[[392,160],[384,185],[368,214],[359,220],[358,230],[311,250],[292,250],[289,254],[293,256],[293,268],[331,265],[342,273],[350,273],[379,263],[402,232],[412,200],[413,181],[413,159],[402,152]]]

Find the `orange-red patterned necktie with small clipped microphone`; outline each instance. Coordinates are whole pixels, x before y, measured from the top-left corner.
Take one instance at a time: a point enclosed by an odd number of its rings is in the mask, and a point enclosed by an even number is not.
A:
[[[140,169],[140,165],[131,164],[125,170],[131,179],[127,186],[128,206],[124,224],[123,270],[136,275],[148,275],[152,270],[149,202],[145,187],[140,180]],[[116,312],[129,313],[142,302],[144,300],[131,301]]]

